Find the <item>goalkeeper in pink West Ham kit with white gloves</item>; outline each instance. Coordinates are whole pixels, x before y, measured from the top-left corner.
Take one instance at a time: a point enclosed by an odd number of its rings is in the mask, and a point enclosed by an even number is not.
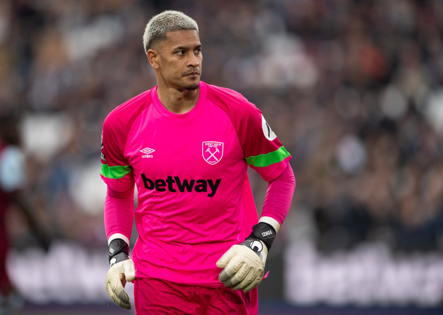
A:
[[[202,44],[189,16],[155,15],[143,45],[157,85],[103,124],[106,290],[130,309],[124,285],[134,281],[137,314],[257,314],[256,286],[295,188],[291,155],[255,105],[200,81]],[[268,181],[260,219],[248,165]]]

